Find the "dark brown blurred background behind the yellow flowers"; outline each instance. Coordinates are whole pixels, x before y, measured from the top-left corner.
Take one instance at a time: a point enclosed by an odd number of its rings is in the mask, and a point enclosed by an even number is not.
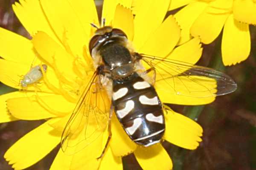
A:
[[[29,34],[13,13],[15,0],[0,0],[0,27],[24,37]],[[101,1],[96,1],[101,11]],[[173,14],[175,11],[170,12]],[[256,170],[256,27],[250,27],[251,53],[238,65],[224,67],[220,54],[220,35],[213,43],[203,45],[203,57],[198,65],[224,71],[238,84],[236,92],[219,96],[204,106],[171,105],[173,110],[198,120],[204,128],[203,142],[197,150],[185,150],[164,142],[174,170]],[[13,47],[15,50],[15,47]],[[0,47],[1,50],[1,47]],[[0,82],[0,94],[15,91]],[[3,159],[6,150],[20,137],[44,121],[16,121],[0,124],[0,170],[12,170]],[[26,170],[48,170],[56,147],[44,159]],[[131,154],[123,158],[125,170],[140,170]]]

